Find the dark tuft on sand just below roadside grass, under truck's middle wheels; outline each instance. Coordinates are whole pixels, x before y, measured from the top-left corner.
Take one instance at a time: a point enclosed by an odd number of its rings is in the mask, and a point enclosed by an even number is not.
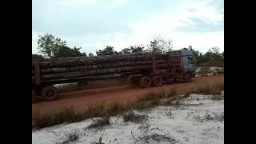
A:
[[[146,120],[147,116],[141,115],[141,114],[135,114],[133,111],[130,110],[127,114],[124,114],[122,118],[124,122],[139,123]]]

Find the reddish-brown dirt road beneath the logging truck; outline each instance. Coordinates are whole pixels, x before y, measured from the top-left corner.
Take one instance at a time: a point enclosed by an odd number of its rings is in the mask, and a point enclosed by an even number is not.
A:
[[[115,86],[111,88],[102,88],[94,90],[83,90],[72,93],[60,94],[60,98],[51,102],[37,102],[32,104],[32,118],[38,115],[59,110],[63,106],[73,106],[80,110],[95,102],[131,102],[136,98],[146,94],[149,90],[161,90],[170,87],[194,87],[203,83],[224,83],[224,76],[210,76],[193,78],[193,82],[179,83],[173,85],[164,85],[158,87],[150,87],[147,89],[134,88],[131,86]]]

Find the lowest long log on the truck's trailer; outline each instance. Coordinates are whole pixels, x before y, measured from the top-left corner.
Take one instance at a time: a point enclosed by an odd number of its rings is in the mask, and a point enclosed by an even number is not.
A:
[[[157,69],[163,69],[166,67],[167,67],[166,64],[162,64],[162,65],[158,65]],[[99,75],[99,74],[115,74],[115,73],[133,72],[133,71],[148,72],[148,70],[152,70],[151,65],[116,67],[116,68],[109,68],[109,69],[75,71],[75,72],[59,73],[59,74],[43,74],[42,80],[54,79],[54,78],[74,78],[74,77],[92,76],[92,75]]]

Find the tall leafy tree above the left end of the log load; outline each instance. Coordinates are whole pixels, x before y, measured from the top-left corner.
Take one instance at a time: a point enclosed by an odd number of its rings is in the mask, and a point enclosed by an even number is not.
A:
[[[49,58],[53,58],[59,47],[66,46],[66,41],[55,38],[52,34],[39,35],[38,50]]]

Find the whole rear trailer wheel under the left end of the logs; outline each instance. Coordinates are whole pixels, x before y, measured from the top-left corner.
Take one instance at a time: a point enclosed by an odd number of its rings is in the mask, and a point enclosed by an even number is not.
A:
[[[46,86],[42,89],[41,97],[47,101],[52,101],[57,98],[57,90],[54,86]]]

